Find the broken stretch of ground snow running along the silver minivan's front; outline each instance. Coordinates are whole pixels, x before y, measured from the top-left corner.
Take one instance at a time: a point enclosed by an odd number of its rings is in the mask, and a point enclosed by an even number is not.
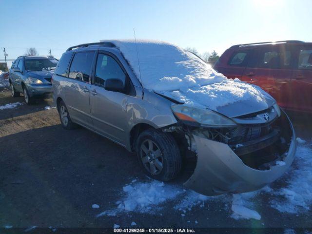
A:
[[[270,198],[269,205],[281,213],[298,214],[309,211],[312,207],[311,144],[299,143],[290,170],[279,180],[286,182],[286,186],[279,187],[279,183],[273,183],[250,193],[205,196],[156,180],[139,182],[134,179],[123,187],[122,196],[116,202],[115,208],[97,216],[115,216],[130,212],[159,214],[159,211],[166,207],[166,202],[171,201],[175,202],[173,212],[187,217],[192,209],[209,209],[210,204],[217,201],[223,202],[225,207],[231,207],[225,210],[228,210],[229,216],[236,220],[260,220],[261,214],[256,211],[256,207],[263,194]]]

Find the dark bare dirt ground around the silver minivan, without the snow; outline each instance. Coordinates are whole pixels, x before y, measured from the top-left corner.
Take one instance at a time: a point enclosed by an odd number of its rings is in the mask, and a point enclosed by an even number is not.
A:
[[[23,102],[0,90],[0,106]],[[235,220],[231,207],[212,202],[195,207],[186,222],[173,202],[156,214],[136,212],[96,217],[115,207],[122,187],[147,181],[137,159],[124,148],[78,128],[64,130],[51,98],[0,110],[0,227],[312,227],[312,213],[283,214],[270,208],[269,197],[256,201],[261,220]],[[292,114],[299,137],[311,139],[311,117]],[[282,182],[281,182],[282,183]],[[182,186],[179,181],[169,184]],[[92,209],[92,204],[100,209]],[[161,215],[160,215],[161,213]],[[198,224],[194,223],[194,220]]]

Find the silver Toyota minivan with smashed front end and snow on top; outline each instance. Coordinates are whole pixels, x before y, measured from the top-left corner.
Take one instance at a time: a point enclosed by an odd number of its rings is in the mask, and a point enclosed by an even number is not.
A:
[[[65,129],[78,124],[113,140],[157,180],[188,168],[187,188],[241,193],[273,182],[293,161],[292,123],[270,95],[166,42],[70,47],[52,84]]]

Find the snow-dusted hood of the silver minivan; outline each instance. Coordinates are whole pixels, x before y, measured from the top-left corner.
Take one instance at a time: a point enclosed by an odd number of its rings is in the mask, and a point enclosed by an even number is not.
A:
[[[230,118],[260,112],[276,103],[274,98],[260,87],[238,79],[156,93],[184,105],[210,109]]]

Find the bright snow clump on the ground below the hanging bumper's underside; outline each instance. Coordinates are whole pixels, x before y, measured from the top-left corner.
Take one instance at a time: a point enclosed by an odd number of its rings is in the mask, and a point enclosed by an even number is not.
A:
[[[247,193],[247,194],[234,194],[233,195],[233,203],[232,203],[232,211],[233,214],[231,217],[234,219],[251,219],[254,218],[256,220],[261,219],[261,215],[259,215],[258,212],[249,209],[246,207],[246,205],[250,205],[250,202],[246,202],[246,198],[244,196],[253,196],[253,193]],[[245,199],[244,199],[245,198]]]

